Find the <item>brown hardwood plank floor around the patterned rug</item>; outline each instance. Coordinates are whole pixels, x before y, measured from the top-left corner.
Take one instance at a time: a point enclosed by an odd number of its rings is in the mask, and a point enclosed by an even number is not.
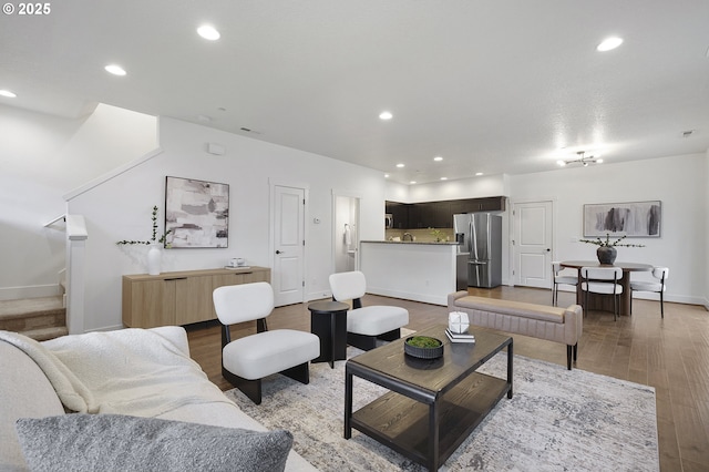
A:
[[[551,291],[521,287],[470,288],[472,295],[551,305]],[[559,306],[575,294],[561,293]],[[364,305],[397,305],[409,310],[409,328],[448,322],[448,308],[368,295]],[[661,471],[709,470],[709,314],[703,307],[636,299],[631,317],[589,311],[578,343],[575,368],[653,386],[657,397],[657,427]],[[307,304],[276,308],[269,328],[310,330]],[[222,377],[218,324],[188,327],[192,357],[214,383],[228,390]],[[234,338],[255,332],[255,324],[233,327]],[[514,335],[515,353],[566,365],[559,343]]]

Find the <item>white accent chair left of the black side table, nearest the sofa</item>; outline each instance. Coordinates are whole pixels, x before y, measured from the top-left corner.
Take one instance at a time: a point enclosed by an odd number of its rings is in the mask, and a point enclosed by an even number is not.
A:
[[[222,374],[256,404],[261,403],[261,379],[282,373],[301,383],[310,381],[308,363],[320,356],[320,339],[294,329],[268,331],[274,289],[265,281],[218,287],[212,294],[222,322]],[[229,326],[257,320],[257,332],[232,340]]]

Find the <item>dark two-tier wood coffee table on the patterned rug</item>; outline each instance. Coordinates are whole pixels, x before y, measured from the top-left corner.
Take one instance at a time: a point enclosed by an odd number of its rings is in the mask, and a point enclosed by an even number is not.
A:
[[[497,402],[512,398],[512,338],[474,331],[475,343],[451,343],[445,326],[417,332],[444,342],[443,357],[412,358],[403,352],[404,338],[347,361],[345,366],[345,438],[352,428],[438,471]],[[475,370],[507,348],[507,379]],[[390,392],[352,412],[352,377]]]

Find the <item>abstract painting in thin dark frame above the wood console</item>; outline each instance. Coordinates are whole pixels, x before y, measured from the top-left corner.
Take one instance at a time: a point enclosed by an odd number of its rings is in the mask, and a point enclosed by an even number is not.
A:
[[[228,247],[229,185],[167,176],[165,230],[171,248]]]

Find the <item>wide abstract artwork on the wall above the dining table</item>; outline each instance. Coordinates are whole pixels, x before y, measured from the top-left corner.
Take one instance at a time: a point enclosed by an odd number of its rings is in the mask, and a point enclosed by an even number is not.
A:
[[[660,201],[584,205],[584,236],[660,237]]]

